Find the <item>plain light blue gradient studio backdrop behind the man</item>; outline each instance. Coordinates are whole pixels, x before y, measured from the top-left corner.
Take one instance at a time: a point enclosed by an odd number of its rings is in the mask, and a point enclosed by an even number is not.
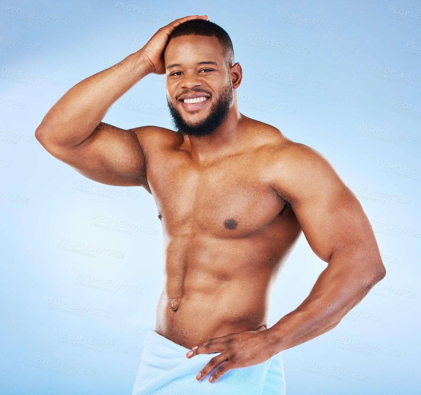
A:
[[[91,184],[49,155],[33,135],[48,109],[69,88],[138,50],[169,23],[165,19],[169,13],[176,18],[207,14],[226,29],[235,61],[243,69],[237,91],[240,111],[325,155],[359,195],[373,221],[387,275],[335,329],[282,352],[287,394],[415,393],[420,326],[421,4],[219,0],[128,4],[145,14],[127,14],[116,1],[1,2],[0,392],[131,393],[144,335],[155,328],[155,307],[163,286],[163,240],[155,203],[140,187],[110,187],[106,197],[99,195],[104,186]],[[12,7],[42,13],[51,21],[30,23],[39,20],[22,18],[21,11]],[[412,12],[407,20],[400,16],[406,11]],[[314,25],[305,22],[306,16],[333,22],[342,31],[323,25],[309,28]],[[56,17],[71,25],[54,23]],[[300,19],[302,26],[290,23]],[[253,41],[253,35],[311,51],[276,53],[269,46],[259,48],[261,39]],[[29,42],[29,48],[15,45],[17,40]],[[418,43],[419,49],[411,50],[408,42]],[[379,72],[380,67],[399,70],[400,75],[411,73],[415,80],[387,79],[390,73]],[[270,70],[328,84],[329,89],[288,86],[285,77],[265,80]],[[37,80],[11,77],[26,72]],[[37,82],[44,78],[47,83]],[[53,80],[56,86],[51,85]],[[133,99],[141,102],[127,104]],[[259,106],[260,99],[283,104],[295,113]],[[24,108],[13,108],[12,101]],[[395,112],[399,107],[394,102],[416,105],[418,112]],[[120,128],[171,127],[164,77],[145,77],[112,106],[104,122]],[[396,134],[391,139],[381,132],[364,131],[361,125]],[[415,140],[407,141],[408,136]],[[396,166],[407,171],[396,173]],[[385,197],[376,197],[376,191]],[[16,201],[16,195],[27,203]],[[397,201],[398,197],[407,203]],[[92,220],[98,216],[151,228],[156,235],[97,227]],[[110,248],[124,253],[124,259],[62,250],[66,239]],[[270,325],[303,301],[325,267],[301,235],[274,288]],[[139,292],[91,288],[80,284],[81,275],[120,282]],[[48,306],[54,305],[45,303],[46,298],[106,310],[109,318],[51,310]],[[104,346],[98,351],[79,347],[85,344],[82,341],[67,344],[66,333]],[[347,343],[354,344],[352,350],[346,349]],[[374,350],[364,353],[367,343]],[[124,348],[111,350],[107,344]],[[36,358],[89,369],[95,376],[58,374],[44,370],[47,365],[42,363],[36,368]],[[332,370],[335,375],[326,374]],[[365,379],[352,377],[351,372]]]

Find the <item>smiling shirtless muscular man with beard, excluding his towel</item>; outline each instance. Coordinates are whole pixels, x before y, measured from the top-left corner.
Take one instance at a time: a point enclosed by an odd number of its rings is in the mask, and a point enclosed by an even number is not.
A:
[[[191,26],[170,37],[184,22]],[[187,358],[219,353],[197,374],[201,381],[220,365],[215,382],[334,328],[386,271],[359,200],[328,160],[240,113],[242,68],[230,40],[206,34],[211,24],[196,15],[159,29],[65,93],[35,136],[83,176],[152,194],[165,273],[155,331],[192,349]],[[149,73],[165,73],[177,131],[101,122]],[[328,266],[304,302],[268,328],[274,283],[301,231]]]

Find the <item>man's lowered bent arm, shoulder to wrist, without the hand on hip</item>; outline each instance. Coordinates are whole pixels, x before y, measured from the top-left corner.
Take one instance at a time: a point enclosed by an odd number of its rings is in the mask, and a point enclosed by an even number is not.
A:
[[[386,275],[359,200],[316,150],[294,144],[274,189],[287,199],[309,246],[328,267],[293,312],[266,332],[275,352],[334,328]]]

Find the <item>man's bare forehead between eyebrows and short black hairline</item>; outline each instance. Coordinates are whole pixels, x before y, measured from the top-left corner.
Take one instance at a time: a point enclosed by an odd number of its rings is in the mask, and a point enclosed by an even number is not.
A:
[[[200,61],[224,62],[222,47],[215,36],[187,35],[171,38],[164,53],[165,66],[197,64]]]

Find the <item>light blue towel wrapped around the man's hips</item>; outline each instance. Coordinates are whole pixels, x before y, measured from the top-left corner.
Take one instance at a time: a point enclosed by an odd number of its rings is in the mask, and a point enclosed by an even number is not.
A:
[[[196,380],[196,375],[210,358],[220,352],[187,358],[189,349],[153,329],[149,329],[143,344],[132,395],[285,395],[280,353],[259,365],[232,369],[218,381],[210,383],[210,374],[200,382]]]

